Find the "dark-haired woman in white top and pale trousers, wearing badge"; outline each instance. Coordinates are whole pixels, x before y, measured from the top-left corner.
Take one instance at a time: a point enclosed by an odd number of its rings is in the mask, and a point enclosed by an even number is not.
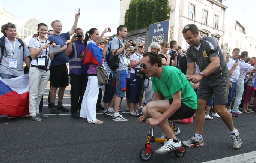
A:
[[[38,37],[29,41],[29,51],[32,58],[29,69],[29,114],[31,120],[42,121],[41,118],[48,116],[39,113],[39,104],[50,76],[49,66],[54,55],[49,54],[51,45],[49,44],[50,41],[46,39],[47,25],[39,23],[37,26]]]

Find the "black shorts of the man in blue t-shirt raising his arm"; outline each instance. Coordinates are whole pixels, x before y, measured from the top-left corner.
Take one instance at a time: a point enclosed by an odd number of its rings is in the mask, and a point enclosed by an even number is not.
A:
[[[68,86],[68,68],[66,64],[51,66],[51,86],[55,88]]]

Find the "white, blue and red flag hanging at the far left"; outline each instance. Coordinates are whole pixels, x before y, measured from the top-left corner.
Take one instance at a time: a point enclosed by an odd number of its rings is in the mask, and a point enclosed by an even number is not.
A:
[[[29,75],[0,78],[0,115],[20,117],[29,114]]]

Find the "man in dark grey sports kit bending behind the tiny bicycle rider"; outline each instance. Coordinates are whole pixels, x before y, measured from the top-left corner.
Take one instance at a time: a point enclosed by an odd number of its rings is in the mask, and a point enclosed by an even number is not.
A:
[[[234,148],[241,147],[239,132],[234,128],[231,114],[226,111],[225,104],[229,91],[229,72],[224,60],[221,49],[216,40],[212,37],[199,36],[199,30],[196,25],[188,24],[182,34],[186,42],[190,45],[187,48],[187,79],[192,82],[199,82],[197,90],[197,111],[196,111],[196,133],[183,144],[188,147],[203,147],[202,138],[203,124],[205,122],[204,109],[206,103],[214,96],[214,108],[221,119],[229,128],[230,138],[233,141]],[[195,63],[198,64],[200,73],[195,74]]]

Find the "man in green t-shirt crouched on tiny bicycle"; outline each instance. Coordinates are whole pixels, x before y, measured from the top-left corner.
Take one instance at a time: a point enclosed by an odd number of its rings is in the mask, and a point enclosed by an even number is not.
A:
[[[152,78],[154,96],[143,108],[139,121],[149,126],[158,125],[167,136],[164,145],[156,153],[168,153],[181,147],[181,141],[170,129],[168,120],[190,118],[197,109],[197,96],[186,76],[176,67],[162,66],[160,56],[155,52],[143,54],[140,64],[146,78]],[[161,93],[166,100],[161,100]],[[168,120],[167,120],[168,118]]]

